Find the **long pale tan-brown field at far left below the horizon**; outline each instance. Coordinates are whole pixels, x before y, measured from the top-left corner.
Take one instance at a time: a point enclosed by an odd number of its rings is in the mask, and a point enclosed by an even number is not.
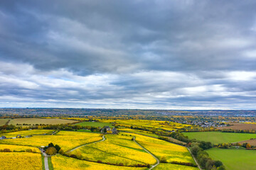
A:
[[[65,123],[74,123],[77,122],[75,120],[65,120],[65,119],[58,119],[58,118],[15,118],[9,122],[9,125],[23,125],[23,123],[28,125],[58,125],[58,124],[65,124]]]

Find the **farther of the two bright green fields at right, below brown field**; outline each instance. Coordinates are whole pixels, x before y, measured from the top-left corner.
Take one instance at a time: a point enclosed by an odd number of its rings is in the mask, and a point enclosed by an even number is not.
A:
[[[232,133],[232,132],[183,132],[189,139],[203,140],[213,144],[223,142],[240,142],[256,138],[256,134]]]

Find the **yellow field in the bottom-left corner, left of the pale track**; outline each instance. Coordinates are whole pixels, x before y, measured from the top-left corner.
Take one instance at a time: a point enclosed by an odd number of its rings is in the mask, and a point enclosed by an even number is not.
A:
[[[23,152],[1,152],[0,169],[41,170],[41,154]]]

